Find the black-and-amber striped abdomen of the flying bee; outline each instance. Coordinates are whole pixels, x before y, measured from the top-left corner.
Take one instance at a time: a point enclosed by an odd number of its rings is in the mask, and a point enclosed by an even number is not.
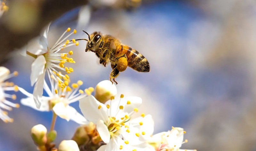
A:
[[[118,51],[120,54],[126,54],[129,67],[139,72],[149,72],[148,60],[137,50],[121,45]]]

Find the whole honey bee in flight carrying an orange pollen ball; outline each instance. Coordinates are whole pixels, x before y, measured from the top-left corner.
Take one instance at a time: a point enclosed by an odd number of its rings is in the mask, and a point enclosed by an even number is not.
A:
[[[85,32],[85,31],[83,31]],[[127,45],[123,45],[120,40],[111,35],[104,35],[100,32],[93,32],[88,34],[86,40],[85,52],[92,51],[100,58],[100,64],[106,67],[107,63],[111,63],[112,71],[109,75],[109,80],[115,81],[115,78],[126,69],[127,66],[139,72],[149,72],[150,67],[148,60],[140,54],[137,50],[132,49]],[[113,84],[113,82],[112,82]]]

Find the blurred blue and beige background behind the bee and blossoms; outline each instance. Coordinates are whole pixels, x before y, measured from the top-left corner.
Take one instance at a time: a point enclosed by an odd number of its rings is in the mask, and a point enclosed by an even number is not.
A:
[[[140,110],[153,116],[155,133],[184,128],[188,143],[182,149],[256,150],[255,1],[162,0],[133,11],[109,6],[82,10],[78,22],[67,21],[77,9],[52,23],[50,45],[71,27],[78,31],[74,38],[87,38],[82,30],[101,31],[143,54],[150,72],[127,68],[116,78],[116,87],[118,95],[142,98]],[[108,79],[111,67],[104,68],[95,54],[84,52],[86,41],[79,43],[72,48],[76,64],[68,65],[74,68],[71,82],[82,80],[82,88],[95,87]],[[20,51],[11,55],[4,66],[19,72],[11,81],[32,93],[33,58]],[[18,92],[17,101],[22,97]],[[71,106],[79,110],[78,102]],[[52,113],[21,105],[9,116],[13,123],[0,121],[0,150],[36,150],[29,131],[37,124],[50,128]],[[70,139],[78,126],[58,118],[56,144]]]

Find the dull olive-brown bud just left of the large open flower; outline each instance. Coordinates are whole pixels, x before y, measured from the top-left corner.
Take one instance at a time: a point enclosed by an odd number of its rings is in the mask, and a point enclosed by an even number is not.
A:
[[[74,136],[72,137],[72,140],[75,140],[78,146],[82,144],[87,144],[90,139],[85,128],[85,126],[78,127]]]

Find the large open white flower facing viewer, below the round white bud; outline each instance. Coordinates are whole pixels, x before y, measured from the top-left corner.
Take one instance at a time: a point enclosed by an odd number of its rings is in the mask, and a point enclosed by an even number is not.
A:
[[[131,119],[130,115],[138,112],[142,100],[140,97],[123,97],[121,95],[120,100],[112,97],[106,105],[93,96],[79,100],[84,117],[96,124],[101,139],[107,143],[98,151],[150,150],[146,140],[154,130],[151,115],[142,113],[141,117]]]

